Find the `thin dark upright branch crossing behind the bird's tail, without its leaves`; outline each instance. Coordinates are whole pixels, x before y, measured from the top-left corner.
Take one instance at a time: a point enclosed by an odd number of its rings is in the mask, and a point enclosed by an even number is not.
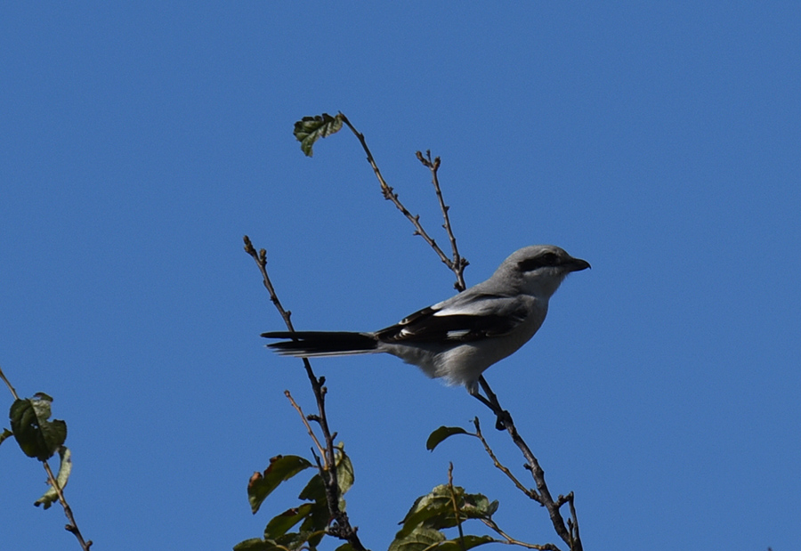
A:
[[[267,251],[262,248],[256,252],[253,243],[250,241],[250,238],[248,238],[247,235],[245,236],[244,240],[245,252],[253,257],[256,265],[259,267],[259,271],[262,273],[264,288],[266,288],[267,292],[270,294],[270,300],[272,301],[272,304],[275,304],[275,307],[279,311],[281,318],[284,319],[284,323],[287,325],[287,329],[290,331],[295,331],[291,320],[292,312],[284,310],[284,307],[281,305],[279,297],[275,292],[275,288],[272,286],[270,276],[267,273]],[[314,375],[314,371],[312,371],[312,364],[306,358],[303,358],[303,368],[306,369],[306,375],[309,377],[309,382],[312,383],[312,391],[317,401],[318,410],[318,415],[308,416],[307,418],[309,420],[316,421],[317,424],[320,425],[320,431],[322,431],[323,440],[325,441],[325,448],[323,449],[323,463],[322,465],[318,464],[318,468],[320,470],[320,478],[325,485],[328,511],[331,514],[332,520],[331,525],[328,526],[328,534],[339,539],[344,539],[350,543],[353,549],[356,551],[367,551],[366,547],[361,544],[359,536],[356,534],[357,529],[351,525],[347,513],[345,513],[339,507],[340,492],[339,482],[337,482],[336,478],[334,435],[331,434],[331,431],[328,428],[328,417],[326,417],[326,393],[328,392],[328,389],[325,387],[326,377],[317,377]],[[307,426],[311,431],[311,426]],[[320,446],[320,442],[317,442],[316,439],[314,440],[318,446]]]

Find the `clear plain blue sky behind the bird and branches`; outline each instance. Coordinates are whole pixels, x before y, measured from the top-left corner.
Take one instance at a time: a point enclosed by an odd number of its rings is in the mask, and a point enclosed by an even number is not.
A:
[[[799,33],[792,2],[4,5],[0,366],[67,420],[93,548],[227,549],[294,503],[301,482],[247,505],[268,458],[309,455],[284,389],[313,402],[263,348],[282,324],[244,234],[297,328],[452,294],[351,134],[303,157],[295,120],[337,110],[445,245],[414,152],[441,156],[469,283],[536,243],[592,263],[487,373],[588,549],[797,548]],[[554,541],[476,442],[425,450],[478,415],[522,464],[464,390],[391,357],[314,366],[368,547],[449,461],[510,534]],[[31,505],[41,467],[12,442],[0,465],[2,547],[77,548]]]

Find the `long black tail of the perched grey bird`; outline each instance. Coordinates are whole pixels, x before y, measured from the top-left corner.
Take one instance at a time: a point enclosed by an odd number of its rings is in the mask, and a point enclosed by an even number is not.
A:
[[[369,333],[347,331],[273,331],[262,333],[265,338],[292,339],[267,346],[282,356],[314,358],[319,356],[347,356],[378,352],[378,340]]]

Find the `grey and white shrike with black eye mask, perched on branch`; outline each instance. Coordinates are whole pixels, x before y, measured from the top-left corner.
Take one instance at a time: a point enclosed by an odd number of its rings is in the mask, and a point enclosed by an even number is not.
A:
[[[548,299],[562,280],[571,271],[589,267],[586,260],[553,245],[523,247],[489,280],[388,328],[372,333],[272,331],[262,336],[292,339],[268,346],[298,358],[387,352],[423,369],[428,377],[465,385],[481,400],[481,373],[526,344],[545,320]]]

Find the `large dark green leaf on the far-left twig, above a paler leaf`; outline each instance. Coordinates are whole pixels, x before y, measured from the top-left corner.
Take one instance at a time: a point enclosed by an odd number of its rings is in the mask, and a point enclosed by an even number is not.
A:
[[[29,458],[46,461],[53,457],[67,440],[67,424],[59,419],[50,421],[53,398],[36,393],[33,398],[18,399],[9,411],[12,432],[20,448]]]

